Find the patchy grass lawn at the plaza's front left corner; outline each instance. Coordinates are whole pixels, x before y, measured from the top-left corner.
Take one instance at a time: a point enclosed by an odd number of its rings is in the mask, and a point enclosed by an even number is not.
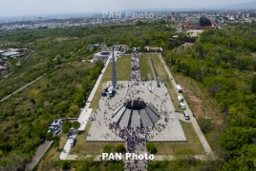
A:
[[[87,123],[85,127],[85,132],[77,135],[75,139],[77,140],[75,146],[71,148],[70,154],[77,155],[94,155],[96,152],[101,154],[103,152],[103,146],[106,144],[114,145],[124,144],[124,142],[86,142],[87,134],[90,130],[92,122]]]

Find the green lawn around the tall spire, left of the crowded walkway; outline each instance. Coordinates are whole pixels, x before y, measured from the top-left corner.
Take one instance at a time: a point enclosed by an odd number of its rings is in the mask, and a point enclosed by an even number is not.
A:
[[[131,71],[131,55],[117,58],[116,69],[117,69],[117,83],[118,81],[128,81],[130,79],[130,71]],[[96,94],[94,96],[93,102],[92,104],[90,104],[90,108],[93,108],[93,111],[96,110],[98,101],[101,97],[103,84],[111,80],[112,80],[112,63],[110,63],[107,66],[105,73],[100,81],[100,84],[96,89]]]

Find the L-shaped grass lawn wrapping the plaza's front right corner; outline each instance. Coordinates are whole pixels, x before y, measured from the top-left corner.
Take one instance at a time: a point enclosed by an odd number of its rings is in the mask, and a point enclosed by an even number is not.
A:
[[[157,155],[196,155],[203,154],[202,144],[191,123],[181,122],[187,142],[154,142]]]

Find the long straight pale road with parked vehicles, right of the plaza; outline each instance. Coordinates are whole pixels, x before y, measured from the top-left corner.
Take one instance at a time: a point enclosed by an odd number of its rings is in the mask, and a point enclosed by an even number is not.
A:
[[[161,64],[164,66],[164,69],[165,69],[166,73],[168,74],[168,76],[169,76],[169,78],[170,78],[170,80],[171,80],[171,82],[172,82],[172,84],[173,84],[173,86],[174,86],[174,88],[175,88],[177,84],[176,84],[175,80],[172,79],[173,76],[172,76],[172,74],[171,74],[171,72],[170,72],[169,67],[165,65],[165,62],[163,61],[163,59],[162,59],[160,53],[159,53],[159,57],[160,57]],[[178,93],[178,92],[177,92],[177,96],[178,96],[179,94],[181,94],[181,93]],[[190,122],[192,123],[192,125],[193,125],[193,127],[194,127],[194,129],[195,129],[195,131],[196,131],[196,133],[197,133],[197,135],[198,135],[198,137],[199,137],[199,140],[200,140],[200,142],[201,142],[202,145],[203,145],[204,152],[205,152],[206,154],[211,154],[211,153],[213,153],[212,150],[211,150],[211,147],[210,147],[209,143],[207,142],[207,140],[205,139],[205,137],[204,137],[204,135],[203,135],[203,132],[202,132],[202,130],[201,130],[201,128],[200,128],[200,126],[199,126],[197,120],[193,117],[193,114],[192,114],[192,112],[191,112],[191,110],[190,110],[190,107],[188,106],[188,104],[186,103],[185,100],[183,101],[183,103],[185,104],[185,106],[186,106],[186,111],[187,111],[188,115],[190,116]]]

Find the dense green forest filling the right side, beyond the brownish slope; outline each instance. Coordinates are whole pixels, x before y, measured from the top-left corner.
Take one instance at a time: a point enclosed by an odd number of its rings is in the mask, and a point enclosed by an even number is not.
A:
[[[219,129],[223,134],[217,141],[222,150],[215,151],[223,161],[219,169],[255,169],[255,52],[255,25],[208,29],[194,46],[164,52],[172,71],[202,83],[219,103],[224,118],[224,127]],[[213,131],[217,129],[208,131],[208,136]]]

